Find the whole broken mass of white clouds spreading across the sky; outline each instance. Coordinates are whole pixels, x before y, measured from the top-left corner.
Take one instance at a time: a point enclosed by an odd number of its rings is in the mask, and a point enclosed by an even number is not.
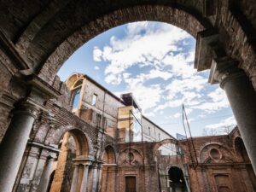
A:
[[[182,104],[188,114],[227,108],[223,90],[218,88],[207,94],[205,73],[194,69],[195,47],[186,47],[191,39],[187,32],[164,23],[130,23],[124,37],[113,36],[109,44],[95,47],[93,59],[106,63],[105,82],[123,84],[125,90],[121,93],[133,92],[148,116]],[[175,113],[172,117],[180,115]]]

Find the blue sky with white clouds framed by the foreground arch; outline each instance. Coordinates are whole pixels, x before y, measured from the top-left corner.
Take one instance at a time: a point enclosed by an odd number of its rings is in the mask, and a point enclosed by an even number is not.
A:
[[[62,81],[86,73],[119,96],[132,92],[143,114],[173,136],[183,134],[182,104],[193,136],[236,121],[218,84],[194,69],[195,38],[166,23],[134,22],[92,38],[61,67]]]

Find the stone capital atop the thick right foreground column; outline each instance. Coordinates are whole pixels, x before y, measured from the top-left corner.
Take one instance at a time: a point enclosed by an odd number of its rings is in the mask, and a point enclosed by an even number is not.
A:
[[[224,84],[230,79],[236,79],[246,75],[238,67],[238,63],[239,61],[230,59],[229,57],[213,59],[208,82],[211,84],[219,83],[220,87],[224,89]]]

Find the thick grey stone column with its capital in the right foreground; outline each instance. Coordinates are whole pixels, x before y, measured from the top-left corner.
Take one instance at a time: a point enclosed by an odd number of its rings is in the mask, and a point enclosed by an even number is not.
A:
[[[256,94],[253,84],[236,61],[216,61],[213,79],[225,90],[238,129],[256,173]]]

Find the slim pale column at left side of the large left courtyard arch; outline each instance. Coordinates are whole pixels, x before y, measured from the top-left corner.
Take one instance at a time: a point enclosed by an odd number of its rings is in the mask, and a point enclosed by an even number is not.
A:
[[[44,168],[44,173],[43,173],[43,176],[42,176],[41,181],[38,186],[38,191],[40,191],[40,192],[46,192],[46,190],[48,189],[49,177],[53,171],[54,160],[55,159],[50,156],[46,162],[46,166]]]

